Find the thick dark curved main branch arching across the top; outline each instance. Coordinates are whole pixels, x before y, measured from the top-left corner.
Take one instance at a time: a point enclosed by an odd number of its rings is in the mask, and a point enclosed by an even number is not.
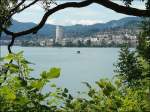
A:
[[[11,35],[11,36],[15,36],[15,37],[19,37],[19,36],[23,36],[23,35],[27,35],[27,34],[30,34],[30,33],[37,33],[38,30],[40,30],[46,20],[48,19],[48,17],[50,15],[52,15],[53,13],[57,12],[57,11],[60,11],[62,9],[65,9],[65,8],[69,8],[69,7],[75,7],[75,8],[81,8],[81,7],[85,7],[85,6],[88,6],[92,3],[97,3],[97,4],[100,4],[102,6],[105,6],[109,9],[112,9],[118,13],[122,13],[122,14],[127,14],[127,15],[133,15],[133,16],[143,16],[143,17],[149,17],[150,16],[150,11],[149,10],[141,10],[141,9],[136,9],[136,8],[132,8],[132,7],[126,7],[126,6],[122,6],[122,5],[118,5],[110,0],[85,0],[85,1],[82,1],[82,2],[69,2],[69,3],[64,3],[64,4],[60,4],[50,10],[48,10],[42,20],[40,21],[40,23],[31,28],[31,29],[28,29],[28,30],[25,30],[25,31],[21,31],[21,32],[11,32],[11,31],[8,31],[8,30],[4,30],[4,32],[8,35]]]

